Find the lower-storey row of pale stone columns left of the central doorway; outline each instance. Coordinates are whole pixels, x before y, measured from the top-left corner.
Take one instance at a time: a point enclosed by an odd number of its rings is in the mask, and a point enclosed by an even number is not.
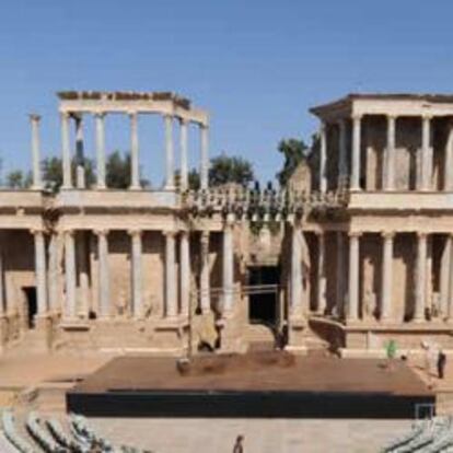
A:
[[[229,217],[223,230],[222,245],[222,311],[225,315],[234,309],[234,251],[233,251],[233,228],[234,218]],[[35,276],[36,276],[36,295],[37,295],[37,314],[46,316],[50,309],[58,306],[58,295],[56,289],[51,288],[56,280],[55,266],[57,266],[56,241],[50,237],[48,241],[48,255],[46,251],[46,236],[43,230],[34,230],[35,244]],[[109,318],[113,316],[113,306],[111,298],[111,275],[108,259],[108,234],[105,229],[95,230],[97,243],[97,287],[98,310],[97,317]],[[163,231],[164,236],[164,311],[165,318],[175,318],[177,316],[187,317],[190,310],[190,234],[187,230],[179,232]],[[79,262],[78,247],[76,241],[76,231],[67,230],[62,233],[65,243],[65,298],[61,307],[62,320],[73,322],[82,314],[86,317],[89,306],[84,306],[85,313],[78,311],[78,271],[81,263]],[[131,229],[128,231],[130,237],[130,304],[131,314],[136,318],[144,316],[143,306],[143,279],[146,278],[142,268],[142,237],[143,231]],[[198,304],[202,313],[211,311],[211,291],[210,291],[210,259],[209,259],[209,231],[200,233],[200,287]],[[176,267],[176,247],[179,247],[179,272]],[[47,264],[47,256],[49,263]],[[0,257],[0,268],[2,260]],[[0,302],[3,302],[3,291],[0,282]],[[178,291],[179,289],[179,291]],[[49,301],[51,303],[49,304]],[[0,304],[3,306],[3,304]],[[80,307],[79,307],[80,309]],[[83,311],[83,310],[82,310]],[[0,315],[1,315],[0,307]]]

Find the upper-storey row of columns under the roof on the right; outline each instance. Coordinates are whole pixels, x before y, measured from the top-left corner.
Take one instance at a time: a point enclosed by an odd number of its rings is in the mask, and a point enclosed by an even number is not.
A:
[[[351,119],[351,169],[348,172],[348,139],[350,119],[341,118],[338,125],[338,185],[345,177],[350,176],[350,189],[360,190],[361,152],[362,152],[362,119],[363,115],[353,115]],[[395,151],[396,151],[396,115],[386,115],[386,147],[382,166],[384,190],[395,190]],[[420,123],[420,164],[417,174],[416,189],[432,190],[431,174],[433,169],[432,117],[425,115]],[[320,190],[327,190],[327,124],[322,121],[320,128]],[[444,190],[453,190],[453,128],[450,128],[444,156]]]

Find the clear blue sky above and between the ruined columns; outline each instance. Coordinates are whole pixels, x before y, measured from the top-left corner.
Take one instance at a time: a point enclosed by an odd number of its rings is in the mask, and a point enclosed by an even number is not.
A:
[[[60,152],[56,91],[165,90],[210,112],[211,154],[242,154],[272,178],[278,141],[317,127],[310,106],[348,92],[453,92],[452,18],[449,0],[3,0],[2,174],[30,167],[30,112],[43,115],[43,151]],[[90,155],[90,121],[85,136]],[[127,118],[108,119],[107,136],[109,150],[127,149]],[[159,184],[159,118],[141,120],[140,152]]]

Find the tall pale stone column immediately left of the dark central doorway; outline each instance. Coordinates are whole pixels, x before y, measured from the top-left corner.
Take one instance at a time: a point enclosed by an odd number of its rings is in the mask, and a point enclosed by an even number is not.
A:
[[[234,247],[233,247],[234,214],[229,213],[223,229],[223,313],[233,311],[234,303]]]

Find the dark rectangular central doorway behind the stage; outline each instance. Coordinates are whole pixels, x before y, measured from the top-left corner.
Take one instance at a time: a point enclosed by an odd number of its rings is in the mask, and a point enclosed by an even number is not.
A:
[[[248,268],[248,318],[251,324],[277,327],[277,298],[280,269],[278,266]],[[260,290],[262,289],[262,290]]]

